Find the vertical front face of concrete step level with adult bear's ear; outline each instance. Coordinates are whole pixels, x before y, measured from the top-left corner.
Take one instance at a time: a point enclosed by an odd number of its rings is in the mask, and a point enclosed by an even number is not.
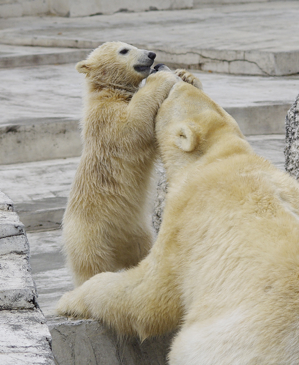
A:
[[[291,103],[224,109],[245,135],[262,135],[284,134],[284,121],[290,107]],[[0,144],[0,165],[78,157],[82,152],[79,121],[68,118],[41,118],[0,125]]]

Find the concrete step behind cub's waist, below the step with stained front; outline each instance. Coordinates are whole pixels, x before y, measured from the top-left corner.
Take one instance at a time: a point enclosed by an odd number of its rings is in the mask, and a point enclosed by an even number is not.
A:
[[[256,152],[284,170],[284,135],[249,136]],[[0,189],[27,231],[59,228],[79,158],[0,166]]]

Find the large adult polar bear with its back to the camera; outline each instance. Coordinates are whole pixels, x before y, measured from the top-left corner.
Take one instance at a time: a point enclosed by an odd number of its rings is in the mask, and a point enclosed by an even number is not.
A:
[[[298,365],[298,183],[186,82],[155,123],[169,183],[156,242],[137,267],[65,294],[58,312],[141,339],[178,326],[170,365]]]

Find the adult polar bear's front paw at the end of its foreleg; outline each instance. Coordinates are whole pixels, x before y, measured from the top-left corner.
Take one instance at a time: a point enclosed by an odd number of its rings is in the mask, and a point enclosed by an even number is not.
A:
[[[85,294],[81,287],[65,293],[56,305],[56,312],[65,317],[91,318],[84,298]]]

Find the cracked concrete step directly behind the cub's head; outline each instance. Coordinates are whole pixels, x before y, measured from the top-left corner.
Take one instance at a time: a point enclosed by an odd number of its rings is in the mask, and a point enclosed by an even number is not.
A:
[[[158,62],[173,67],[273,76],[299,72],[298,1],[211,6],[54,21],[30,17],[27,23],[11,18],[0,42],[89,49],[123,40],[155,51]]]

